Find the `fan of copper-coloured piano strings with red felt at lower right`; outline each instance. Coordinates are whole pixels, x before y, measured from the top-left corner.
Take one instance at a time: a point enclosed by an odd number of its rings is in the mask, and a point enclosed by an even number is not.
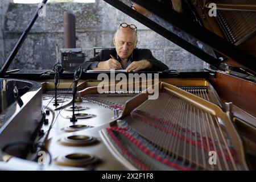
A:
[[[204,97],[207,99],[207,96]],[[137,160],[148,169],[155,169],[155,166],[152,162],[144,160],[143,155],[138,157],[137,150],[143,148],[139,147],[140,144],[137,142],[140,137],[146,138],[146,142],[141,144],[145,146],[143,152],[158,162],[171,163],[178,169],[240,169],[236,151],[230,143],[228,134],[220,125],[219,118],[164,92],[160,93],[159,99],[147,100],[125,119],[128,126],[125,130],[133,129],[139,135],[133,134],[130,142],[129,139],[124,142],[127,139],[120,135],[128,134],[119,127],[113,129],[115,135],[122,131],[118,135],[119,140],[115,143],[124,143],[121,148],[127,147],[130,155],[137,156]],[[131,143],[137,145],[137,148]],[[148,145],[151,147],[147,147]],[[209,151],[216,151],[216,165],[209,164]]]

